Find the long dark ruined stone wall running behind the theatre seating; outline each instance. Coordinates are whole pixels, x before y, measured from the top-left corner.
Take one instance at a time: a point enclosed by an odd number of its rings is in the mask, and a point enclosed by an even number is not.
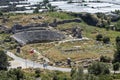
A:
[[[22,25],[19,25],[19,24],[15,24],[13,25],[11,31],[12,33],[17,33],[17,32],[22,32],[24,30],[30,30],[30,29],[43,29],[43,27],[48,27],[48,26],[52,26],[52,27],[57,27],[57,25],[60,25],[60,24],[65,24],[65,23],[71,23],[71,22],[81,22],[80,19],[73,19],[73,20],[62,20],[62,21],[53,21],[53,23],[32,23],[32,24],[29,24],[29,25],[26,25],[26,26],[22,26]]]

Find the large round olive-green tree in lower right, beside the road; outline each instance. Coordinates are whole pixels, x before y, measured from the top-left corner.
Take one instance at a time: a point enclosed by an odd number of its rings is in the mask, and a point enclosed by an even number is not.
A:
[[[109,67],[102,62],[94,62],[88,67],[88,73],[94,75],[109,74]]]

